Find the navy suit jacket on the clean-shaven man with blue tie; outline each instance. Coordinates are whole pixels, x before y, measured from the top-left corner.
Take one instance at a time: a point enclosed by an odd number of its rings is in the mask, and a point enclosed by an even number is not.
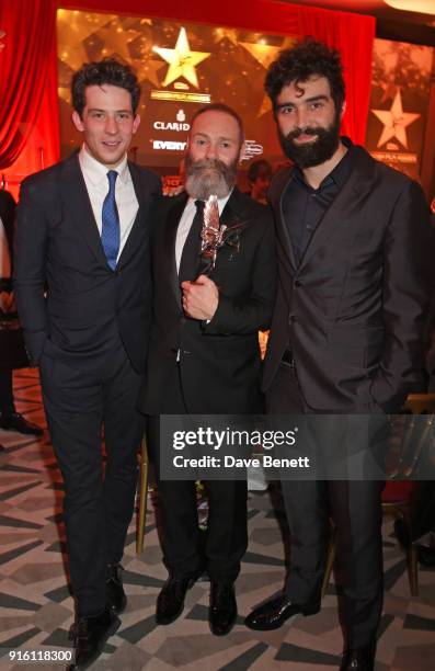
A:
[[[106,262],[78,155],[22,184],[14,282],[33,363],[44,352],[92,366],[116,332],[135,369],[144,371],[151,304],[149,207],[160,180],[128,167],[139,209],[115,271]]]

